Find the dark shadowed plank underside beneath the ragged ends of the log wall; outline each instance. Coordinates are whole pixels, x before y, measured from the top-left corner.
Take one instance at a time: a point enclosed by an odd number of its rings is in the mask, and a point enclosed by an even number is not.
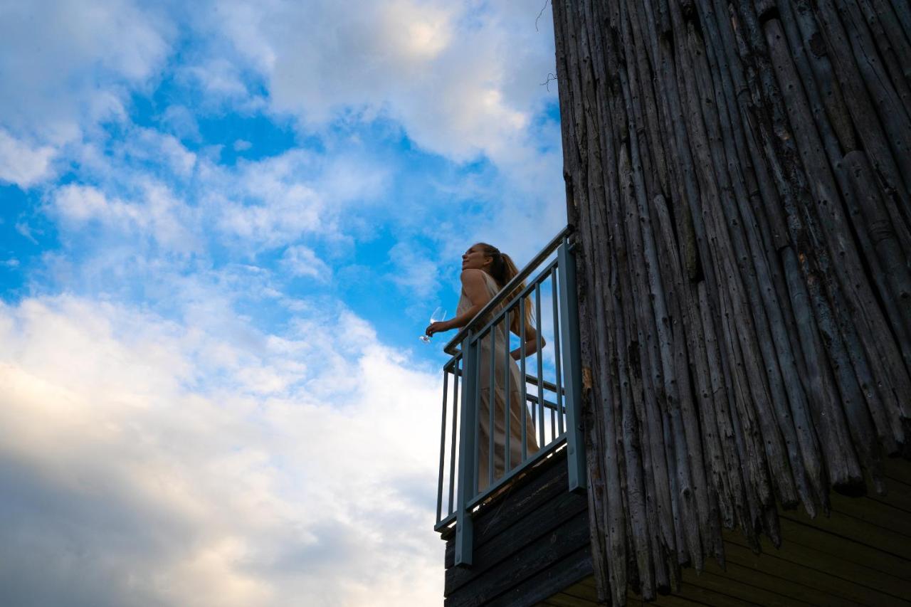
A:
[[[701,573],[684,569],[677,592],[643,602],[630,591],[627,604],[911,606],[909,468],[905,462],[888,462],[887,495],[835,495],[830,516],[812,520],[799,510],[784,511],[781,548],[763,538],[761,552],[755,552],[741,532],[725,531],[723,570],[715,561],[706,562]],[[589,577],[538,604],[593,607],[597,601]]]

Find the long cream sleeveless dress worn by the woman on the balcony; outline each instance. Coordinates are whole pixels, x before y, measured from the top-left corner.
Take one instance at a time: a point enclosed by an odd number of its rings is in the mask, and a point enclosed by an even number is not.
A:
[[[499,292],[494,278],[484,273],[487,293],[491,299]],[[471,300],[462,291],[462,296],[458,301],[456,315],[463,314],[471,307]],[[496,306],[491,314],[487,315],[486,320],[503,309],[503,305]],[[500,478],[504,475],[506,468],[506,386],[507,386],[507,364],[509,375],[509,468],[516,468],[522,462],[522,416],[526,421],[526,457],[530,457],[537,452],[537,432],[533,425],[531,415],[528,413],[528,407],[522,400],[522,372],[519,370],[516,361],[511,356],[507,362],[507,343],[509,340],[509,331],[505,320],[496,324],[493,330],[494,340],[493,347],[496,348],[494,357],[494,373],[496,382],[494,384],[494,478]],[[487,334],[480,341],[478,348],[480,364],[480,402],[478,403],[478,422],[479,431],[477,434],[477,454],[478,454],[478,478],[477,488],[483,491],[490,484],[490,355],[491,355],[491,337]]]

